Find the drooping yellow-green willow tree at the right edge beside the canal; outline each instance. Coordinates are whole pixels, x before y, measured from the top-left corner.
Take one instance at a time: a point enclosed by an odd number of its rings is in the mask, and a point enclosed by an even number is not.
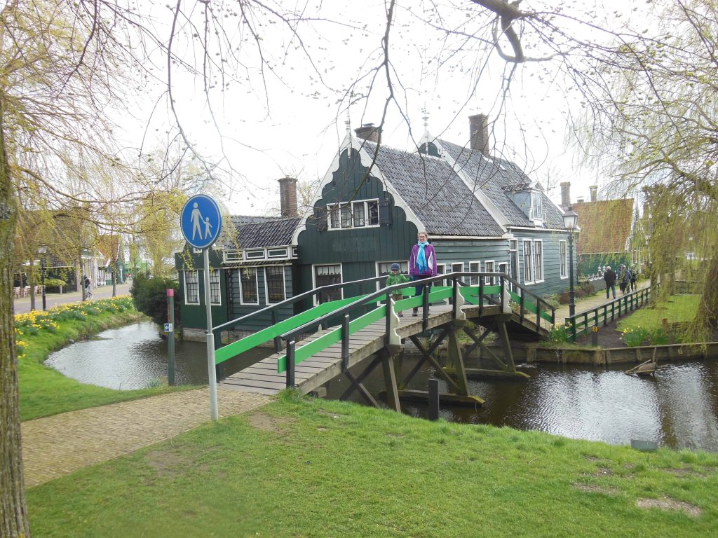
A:
[[[602,66],[610,84],[577,135],[611,192],[645,202],[653,272],[699,278],[692,331],[705,338],[718,328],[718,2],[665,3],[645,24],[653,39]]]

